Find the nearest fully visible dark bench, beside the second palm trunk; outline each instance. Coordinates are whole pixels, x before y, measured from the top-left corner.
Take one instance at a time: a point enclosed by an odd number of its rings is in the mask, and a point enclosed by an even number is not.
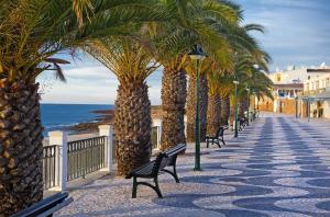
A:
[[[179,183],[179,179],[176,173],[176,159],[177,156],[184,150],[186,150],[185,144],[177,145],[174,148],[158,153],[155,160],[145,163],[144,165],[133,170],[130,174],[128,174],[127,179],[133,178],[132,198],[136,198],[138,185],[140,184],[153,189],[157,193],[158,197],[163,197],[158,185],[160,172],[169,173],[174,176],[175,181]],[[165,169],[166,167],[173,167],[173,171]],[[152,185],[147,182],[138,182],[138,178],[153,179],[155,185]]]

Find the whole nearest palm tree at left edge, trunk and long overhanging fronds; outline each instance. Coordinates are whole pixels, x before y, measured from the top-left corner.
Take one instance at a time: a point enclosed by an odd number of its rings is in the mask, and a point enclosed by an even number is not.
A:
[[[43,127],[36,77],[52,70],[65,80],[59,65],[68,61],[54,58],[55,54],[69,52],[67,48],[87,39],[130,34],[128,25],[142,19],[142,1],[0,3],[0,214],[9,216],[43,197]]]

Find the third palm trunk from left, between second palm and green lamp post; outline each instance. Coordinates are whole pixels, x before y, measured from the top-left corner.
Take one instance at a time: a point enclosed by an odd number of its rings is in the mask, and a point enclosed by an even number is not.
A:
[[[185,144],[187,79],[184,71],[164,68],[162,82],[163,126],[161,149]]]

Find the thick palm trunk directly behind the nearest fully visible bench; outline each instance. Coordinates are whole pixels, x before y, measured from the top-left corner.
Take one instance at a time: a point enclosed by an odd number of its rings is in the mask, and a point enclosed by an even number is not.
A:
[[[119,175],[127,175],[150,161],[151,125],[146,83],[140,80],[120,83],[114,112]]]

